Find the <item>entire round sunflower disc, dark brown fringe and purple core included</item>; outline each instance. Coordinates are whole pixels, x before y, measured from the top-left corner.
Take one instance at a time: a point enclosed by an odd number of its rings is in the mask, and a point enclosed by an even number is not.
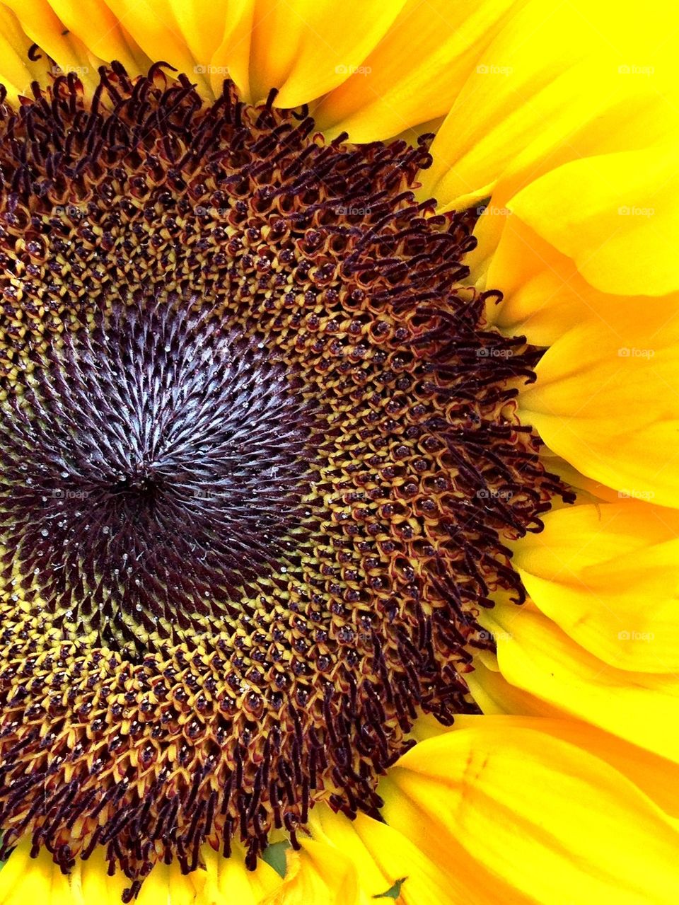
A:
[[[137,894],[377,815],[553,493],[427,143],[325,144],[159,65],[0,129],[0,826]]]

